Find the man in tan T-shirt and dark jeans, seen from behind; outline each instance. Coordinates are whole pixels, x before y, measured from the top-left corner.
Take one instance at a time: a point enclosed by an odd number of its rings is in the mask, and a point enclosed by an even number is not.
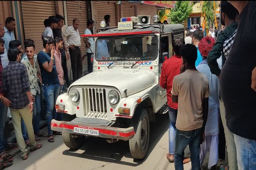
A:
[[[189,145],[192,170],[200,170],[200,144],[208,115],[209,85],[206,75],[196,67],[197,48],[186,44],[181,48],[185,72],[173,79],[172,101],[180,105],[176,120],[174,149],[175,170],[183,170],[184,150]]]

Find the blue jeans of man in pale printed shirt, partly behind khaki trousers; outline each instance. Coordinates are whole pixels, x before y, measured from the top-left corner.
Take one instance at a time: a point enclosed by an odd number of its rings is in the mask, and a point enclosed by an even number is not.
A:
[[[41,113],[40,94],[36,93],[34,98],[35,98],[35,102],[33,104],[32,125],[33,125],[33,129],[34,129],[34,133],[37,134],[37,133],[39,133],[39,127],[40,127],[40,113]],[[27,129],[26,129],[23,119],[21,119],[21,131],[22,131],[22,136],[23,136],[24,140],[27,141],[28,140]]]

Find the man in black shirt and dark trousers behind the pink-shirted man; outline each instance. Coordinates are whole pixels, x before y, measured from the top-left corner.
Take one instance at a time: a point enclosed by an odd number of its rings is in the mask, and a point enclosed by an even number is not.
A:
[[[53,29],[52,30],[53,37],[54,37],[54,39],[56,37],[62,38],[61,28],[64,25],[64,18],[61,15],[59,15],[59,14],[56,14],[55,17],[59,20],[59,22],[58,22],[57,29]],[[67,57],[66,57],[65,51],[67,52]],[[70,55],[69,55],[68,47],[64,47],[62,50],[60,50],[60,53],[61,53],[61,66],[63,68],[64,77],[65,77],[67,86],[69,87],[70,86],[70,81],[69,81],[69,78],[68,78],[67,60],[69,59]]]

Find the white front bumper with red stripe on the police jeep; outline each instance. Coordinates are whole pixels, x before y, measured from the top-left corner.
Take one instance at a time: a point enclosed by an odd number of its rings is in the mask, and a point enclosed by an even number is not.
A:
[[[56,121],[52,120],[51,129],[55,131],[73,133],[73,134],[81,134],[74,132],[74,128],[86,128],[99,130],[99,136],[103,138],[113,138],[113,139],[121,139],[121,140],[129,140],[133,138],[135,132],[134,128],[115,128],[108,126],[99,126],[99,125],[90,125],[85,123],[74,123],[74,122],[65,122],[65,121]],[[82,134],[85,135],[85,134]],[[86,134],[87,135],[87,134]],[[94,136],[94,135],[90,135]]]

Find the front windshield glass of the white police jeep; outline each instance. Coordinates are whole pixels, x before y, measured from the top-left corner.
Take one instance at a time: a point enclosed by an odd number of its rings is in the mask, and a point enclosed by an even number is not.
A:
[[[96,41],[96,59],[105,60],[152,60],[157,57],[157,36],[98,38]]]

